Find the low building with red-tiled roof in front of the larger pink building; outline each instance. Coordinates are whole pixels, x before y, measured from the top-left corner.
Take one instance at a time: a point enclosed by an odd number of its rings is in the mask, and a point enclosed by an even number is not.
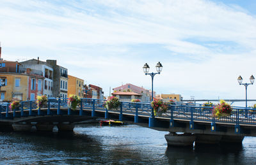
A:
[[[138,94],[136,92],[121,92],[117,91],[112,93],[113,96],[120,99],[120,101],[131,101],[132,99],[140,99],[141,100],[141,94]]]

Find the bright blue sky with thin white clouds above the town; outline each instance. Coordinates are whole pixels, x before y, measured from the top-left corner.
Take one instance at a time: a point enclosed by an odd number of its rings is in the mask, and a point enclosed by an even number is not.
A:
[[[151,89],[142,67],[156,72],[161,62],[157,94],[245,99],[237,77],[256,77],[255,8],[254,0],[1,0],[2,58],[55,59],[104,96],[125,83]]]

